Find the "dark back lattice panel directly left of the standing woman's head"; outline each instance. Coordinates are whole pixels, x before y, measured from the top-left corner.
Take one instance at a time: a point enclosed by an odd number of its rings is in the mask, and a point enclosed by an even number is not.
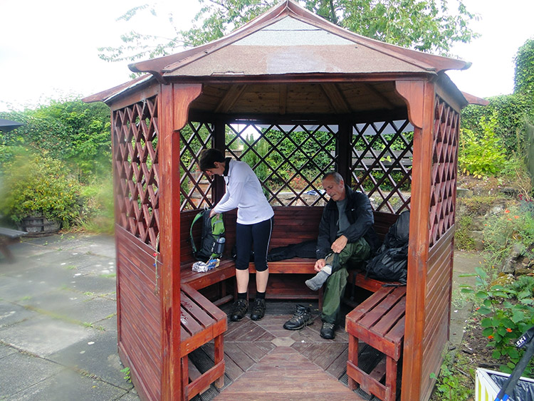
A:
[[[180,210],[211,207],[213,180],[199,170],[201,150],[211,147],[214,127],[189,123],[180,130]]]

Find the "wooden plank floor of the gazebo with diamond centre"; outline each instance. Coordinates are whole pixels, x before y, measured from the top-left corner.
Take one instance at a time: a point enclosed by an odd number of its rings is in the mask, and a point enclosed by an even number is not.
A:
[[[295,301],[267,301],[261,321],[228,319],[224,335],[226,371],[224,387],[211,385],[195,401],[238,400],[375,400],[362,390],[347,387],[348,335],[338,327],[334,340],[319,335],[321,321],[317,302],[300,301],[312,310],[314,323],[302,330],[285,330],[293,316]],[[230,313],[231,303],[221,306]],[[347,309],[348,311],[348,309]],[[379,353],[360,344],[360,366],[372,366]],[[195,350],[192,362],[204,372],[213,365],[214,344]],[[367,368],[365,368],[367,370]]]

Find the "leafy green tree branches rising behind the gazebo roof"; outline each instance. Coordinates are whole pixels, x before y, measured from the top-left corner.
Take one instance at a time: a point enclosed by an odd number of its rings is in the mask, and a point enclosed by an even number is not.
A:
[[[199,46],[243,26],[280,1],[199,0],[202,6],[191,29],[179,31],[169,14],[176,33],[173,38],[130,31],[121,36],[122,46],[99,48],[99,56],[106,61],[135,61],[165,56],[181,46]],[[300,4],[355,33],[419,51],[448,54],[453,43],[467,43],[478,36],[468,26],[477,16],[467,11],[462,0],[456,13],[449,10],[448,0],[300,0]],[[145,4],[118,20],[129,21],[146,12],[157,16],[155,6]]]

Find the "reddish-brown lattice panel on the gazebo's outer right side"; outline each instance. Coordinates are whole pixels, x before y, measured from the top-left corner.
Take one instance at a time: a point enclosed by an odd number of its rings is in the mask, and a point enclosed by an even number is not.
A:
[[[454,224],[460,115],[436,96],[429,246]]]

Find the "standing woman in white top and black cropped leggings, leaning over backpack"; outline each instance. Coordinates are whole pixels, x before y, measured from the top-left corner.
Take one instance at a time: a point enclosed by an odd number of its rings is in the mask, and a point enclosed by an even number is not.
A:
[[[246,162],[232,160],[216,149],[203,150],[199,158],[200,170],[210,177],[221,175],[226,182],[226,193],[211,210],[210,216],[237,208],[236,226],[236,281],[237,300],[231,311],[232,321],[241,321],[248,311],[248,263],[251,249],[256,266],[256,298],[251,319],[258,321],[265,315],[265,293],[269,270],[267,251],[273,232],[273,208],[267,202],[258,177]],[[253,248],[252,248],[253,246]]]

